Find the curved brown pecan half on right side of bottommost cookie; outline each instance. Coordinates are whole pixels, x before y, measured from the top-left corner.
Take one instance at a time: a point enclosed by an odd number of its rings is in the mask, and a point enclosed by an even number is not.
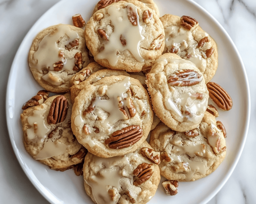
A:
[[[138,178],[135,179],[133,185],[139,186],[146,182],[152,176],[154,172],[153,164],[142,163],[137,166],[137,168],[133,171],[133,174]]]

